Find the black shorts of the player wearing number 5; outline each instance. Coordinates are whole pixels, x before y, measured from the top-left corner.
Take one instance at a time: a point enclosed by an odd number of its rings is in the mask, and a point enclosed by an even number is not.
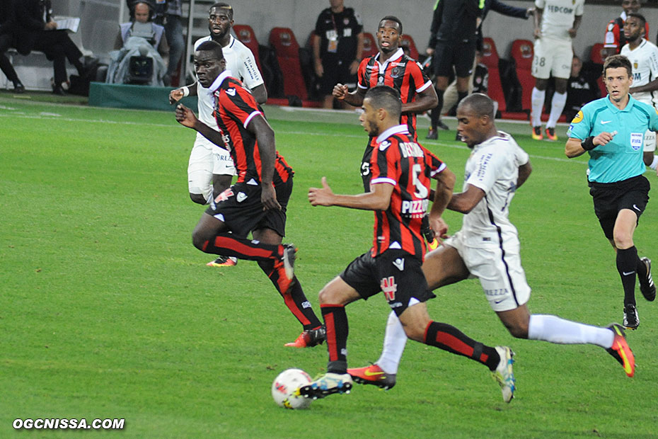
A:
[[[368,297],[383,291],[388,305],[399,317],[409,307],[409,301],[418,302],[437,297],[427,287],[427,280],[420,266],[422,261],[402,250],[387,250],[373,258],[370,251],[354,259],[340,278],[347,285]]]

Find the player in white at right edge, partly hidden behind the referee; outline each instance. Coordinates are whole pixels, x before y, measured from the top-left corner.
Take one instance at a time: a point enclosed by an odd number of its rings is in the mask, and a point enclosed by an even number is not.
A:
[[[626,44],[621,54],[628,58],[633,66],[633,87],[629,92],[637,101],[646,103],[658,111],[658,47],[645,40],[645,17],[640,13],[628,13],[624,23]],[[658,156],[656,150],[656,133],[645,132],[644,161],[651,169],[656,169]]]

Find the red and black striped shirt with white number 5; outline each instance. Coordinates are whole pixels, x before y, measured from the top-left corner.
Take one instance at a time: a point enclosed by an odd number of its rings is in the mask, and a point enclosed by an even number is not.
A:
[[[415,142],[405,125],[389,128],[376,141],[370,184],[388,183],[394,188],[388,209],[375,211],[371,254],[402,249],[422,260],[425,240],[420,227],[429,204],[430,178],[437,178],[446,164]]]

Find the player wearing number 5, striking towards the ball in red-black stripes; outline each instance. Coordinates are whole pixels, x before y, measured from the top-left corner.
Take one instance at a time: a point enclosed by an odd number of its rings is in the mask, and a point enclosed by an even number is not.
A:
[[[389,86],[375,86],[364,98],[359,120],[376,137],[371,160],[371,189],[359,195],[337,195],[323,177],[322,188],[308,190],[311,205],[374,210],[374,244],[371,251],[354,259],[320,292],[322,316],[327,327],[327,373],[299,389],[304,397],[322,398],[352,388],[347,373],[347,314],[345,305],[383,291],[406,335],[429,346],[463,355],[496,370],[501,363],[496,348],[473,340],[454,326],[430,319],[425,301],[434,297],[427,287],[421,264],[425,246],[420,223],[427,211],[430,178],[437,180],[432,220],[437,230],[446,229],[441,219],[455,183],[446,165],[415,142],[400,125],[400,95]],[[507,367],[507,360],[503,359]],[[511,358],[509,359],[511,361]],[[514,381],[511,363],[509,380]],[[513,384],[512,384],[513,385]]]

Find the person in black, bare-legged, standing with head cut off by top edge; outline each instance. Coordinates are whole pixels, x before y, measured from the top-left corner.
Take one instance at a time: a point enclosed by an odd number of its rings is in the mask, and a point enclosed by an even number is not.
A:
[[[439,104],[429,114],[431,125],[426,139],[439,137],[437,126],[453,67],[457,76],[457,102],[468,95],[475,59],[475,32],[482,21],[483,7],[480,0],[440,0],[434,7],[427,55],[434,55],[432,71]]]

